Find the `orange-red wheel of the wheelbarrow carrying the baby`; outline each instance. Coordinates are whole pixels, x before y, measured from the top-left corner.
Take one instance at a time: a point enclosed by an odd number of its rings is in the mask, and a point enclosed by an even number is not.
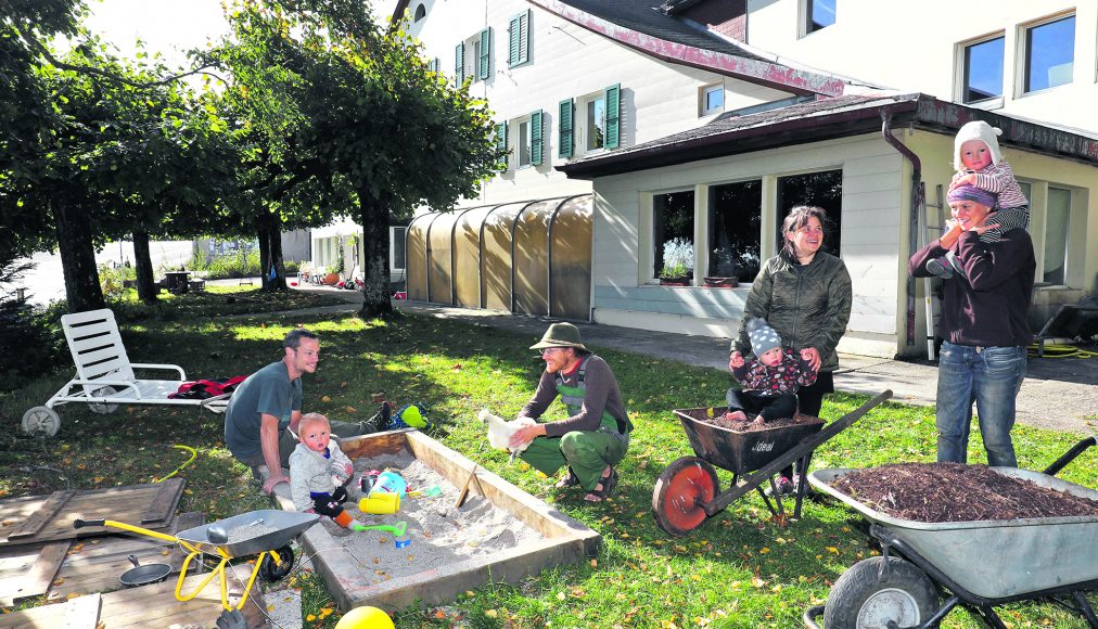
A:
[[[683,457],[668,465],[652,491],[652,515],[660,528],[684,536],[708,517],[702,507],[720,491],[717,472],[707,461]]]

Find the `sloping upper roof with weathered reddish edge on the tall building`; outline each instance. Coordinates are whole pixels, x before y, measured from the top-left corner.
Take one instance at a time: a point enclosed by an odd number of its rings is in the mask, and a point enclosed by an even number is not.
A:
[[[794,94],[838,96],[845,82],[836,75],[795,68],[761,56],[715,33],[660,10],[660,0],[527,0],[530,4],[666,61],[699,68]],[[396,24],[410,0],[393,9]]]

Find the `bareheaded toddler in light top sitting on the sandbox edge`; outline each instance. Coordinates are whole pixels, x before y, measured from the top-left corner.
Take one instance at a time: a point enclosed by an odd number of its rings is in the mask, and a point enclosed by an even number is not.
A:
[[[290,495],[299,512],[328,516],[344,528],[363,526],[343,508],[347,483],[355,465],[332,440],[328,418],[320,413],[302,416],[298,424],[301,440],[290,454]],[[339,482],[336,485],[336,482]]]

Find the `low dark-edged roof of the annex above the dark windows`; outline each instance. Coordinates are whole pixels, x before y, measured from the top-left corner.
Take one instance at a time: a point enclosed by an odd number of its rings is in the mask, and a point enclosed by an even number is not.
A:
[[[910,124],[948,134],[955,133],[963,124],[973,120],[984,120],[1002,130],[1000,144],[1098,165],[1098,138],[1078,132],[993,114],[918,92],[870,92],[744,115],[728,112],[697,128],[573,159],[557,169],[573,179],[594,179],[782,146],[879,133],[886,115],[893,127]]]

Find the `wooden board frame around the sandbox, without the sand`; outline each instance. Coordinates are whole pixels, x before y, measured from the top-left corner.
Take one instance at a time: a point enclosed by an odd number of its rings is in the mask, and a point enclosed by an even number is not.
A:
[[[392,430],[340,439],[339,447],[351,460],[397,454],[404,450],[456,487],[464,485],[474,468],[473,461],[418,430]],[[542,538],[520,548],[438,565],[373,585],[367,585],[370,582],[367,572],[372,573],[372,570],[362,566],[341,548],[332,550],[339,543],[323,526],[309,528],[299,539],[306,555],[313,555],[314,569],[344,611],[362,605],[392,611],[417,603],[451,603],[459,594],[490,581],[517,584],[547,568],[594,557],[602,543],[602,536],[586,525],[480,467],[475,480],[469,483],[469,496],[474,495],[483,495],[495,508],[509,512]],[[274,496],[281,508],[294,510],[288,484],[277,485]]]

